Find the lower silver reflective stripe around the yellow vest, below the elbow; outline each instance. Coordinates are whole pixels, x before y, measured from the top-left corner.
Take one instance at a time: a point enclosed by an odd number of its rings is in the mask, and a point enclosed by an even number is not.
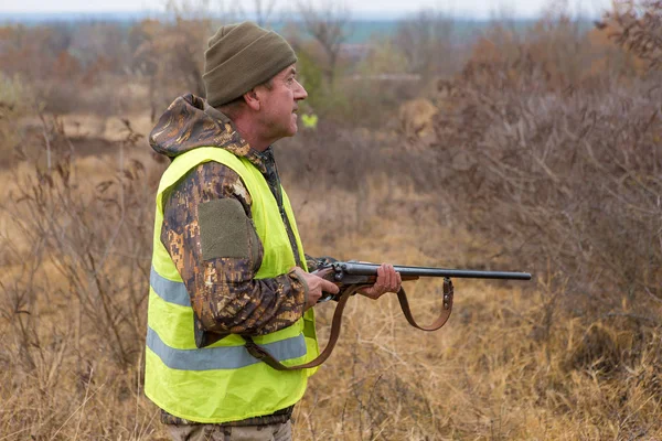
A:
[[[260,363],[244,346],[218,346],[203,349],[175,349],[168,346],[151,327],[147,329],[147,347],[161,358],[166,366],[181,370],[238,369]],[[303,334],[261,345],[279,362],[306,355]]]

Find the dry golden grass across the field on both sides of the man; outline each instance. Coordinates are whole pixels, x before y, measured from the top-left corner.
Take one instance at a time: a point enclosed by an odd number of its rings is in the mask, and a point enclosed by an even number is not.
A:
[[[467,256],[477,252],[471,236],[439,218],[434,195],[396,187],[396,200],[408,195],[410,205],[402,204],[417,209],[416,217],[402,216],[403,205],[387,204],[386,181],[365,181],[372,207],[361,224],[344,217],[348,203],[357,203],[355,193],[301,204],[308,251],[409,265],[480,259]],[[308,190],[290,193],[303,201]],[[333,238],[322,213],[345,218]],[[76,343],[75,300],[56,288],[65,289],[66,280],[52,258],[34,272],[15,273],[17,290],[43,294],[28,306],[2,310],[0,331],[10,338],[0,347],[0,439],[163,439],[157,409],[141,392],[140,355],[122,367],[111,343],[99,340],[111,336],[85,321]],[[417,283],[409,290],[414,312],[430,321],[440,287]],[[545,289],[544,281],[456,281],[455,314],[430,334],[409,327],[393,298],[353,299],[337,352],[297,408],[296,439],[660,439],[660,333],[623,331],[627,318],[586,324],[572,316],[557,318],[543,332]],[[322,335],[329,306],[319,309]],[[639,354],[628,358],[634,349]],[[615,364],[626,374],[610,372]]]

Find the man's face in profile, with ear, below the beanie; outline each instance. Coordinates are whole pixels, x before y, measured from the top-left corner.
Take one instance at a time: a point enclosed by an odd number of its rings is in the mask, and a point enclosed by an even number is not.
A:
[[[306,99],[308,93],[297,80],[293,65],[286,67],[271,79],[271,88],[258,86],[260,112],[265,127],[273,138],[291,137],[297,133],[298,101]]]

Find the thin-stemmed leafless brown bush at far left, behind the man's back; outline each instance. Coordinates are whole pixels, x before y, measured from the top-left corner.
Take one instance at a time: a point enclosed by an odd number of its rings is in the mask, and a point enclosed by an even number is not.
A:
[[[4,287],[8,298],[14,299],[13,316],[25,334],[23,343],[30,343],[26,333],[36,331],[23,330],[21,314],[36,316],[36,292],[51,291],[47,303],[64,301],[71,306],[67,319],[76,349],[82,341],[94,340],[120,366],[129,366],[142,351],[149,279],[151,189],[147,187],[145,165],[125,159],[126,149],[140,137],[127,122],[126,138],[118,147],[117,172],[87,189],[89,183],[77,175],[74,148],[62,125],[46,118],[42,123],[45,162],[38,162],[34,174],[17,176],[20,185],[3,207],[13,218],[17,237],[32,249],[13,288]],[[15,248],[13,262],[21,265]],[[32,263],[25,267],[25,262]],[[41,277],[45,266],[68,284],[41,286],[40,281],[47,280]],[[21,351],[31,347],[19,346]]]

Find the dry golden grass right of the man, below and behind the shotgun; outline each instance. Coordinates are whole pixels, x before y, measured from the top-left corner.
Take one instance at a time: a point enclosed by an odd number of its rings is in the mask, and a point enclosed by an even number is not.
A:
[[[427,265],[426,241],[441,250],[455,239],[450,261],[472,252],[457,249],[466,233],[436,224],[431,211],[397,214],[391,207],[369,234],[339,238],[338,251]],[[445,255],[434,263],[448,263]],[[298,409],[297,439],[660,439],[659,330],[636,335],[630,319],[607,316],[545,324],[546,283],[458,280],[450,323],[430,334],[409,327],[394,298],[355,299],[340,347]],[[409,290],[423,321],[439,306],[439,289]]]

